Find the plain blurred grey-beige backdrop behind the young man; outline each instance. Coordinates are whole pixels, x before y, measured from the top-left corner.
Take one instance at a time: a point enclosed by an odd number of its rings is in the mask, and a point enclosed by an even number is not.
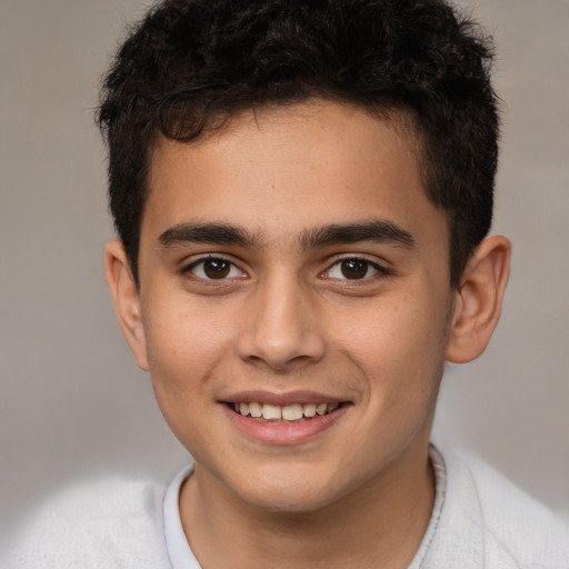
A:
[[[112,237],[98,83],[139,0],[0,0],[0,533],[80,478],[168,479],[186,451],[128,352],[103,280]],[[468,4],[503,99],[495,232],[513,242],[483,357],[449,367],[436,437],[569,515],[569,2]]]

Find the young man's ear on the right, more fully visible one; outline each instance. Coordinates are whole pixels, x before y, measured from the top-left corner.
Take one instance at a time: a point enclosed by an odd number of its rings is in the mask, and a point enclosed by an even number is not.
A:
[[[510,241],[503,236],[487,237],[476,249],[456,291],[448,361],[471,361],[488,346],[500,318],[510,254]]]

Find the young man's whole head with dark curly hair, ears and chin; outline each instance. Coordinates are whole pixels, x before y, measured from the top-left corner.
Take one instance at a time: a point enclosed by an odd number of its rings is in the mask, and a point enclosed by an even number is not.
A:
[[[107,276],[211,496],[415,499],[507,279],[488,59],[435,0],[172,0],[122,46]]]

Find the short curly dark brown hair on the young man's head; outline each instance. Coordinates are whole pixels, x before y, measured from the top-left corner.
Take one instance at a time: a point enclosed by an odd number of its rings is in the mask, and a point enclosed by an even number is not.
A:
[[[189,142],[244,109],[323,98],[411,118],[427,196],[448,214],[458,287],[492,218],[492,57],[491,39],[442,0],[163,0],[120,47],[97,117],[137,284],[156,134]]]

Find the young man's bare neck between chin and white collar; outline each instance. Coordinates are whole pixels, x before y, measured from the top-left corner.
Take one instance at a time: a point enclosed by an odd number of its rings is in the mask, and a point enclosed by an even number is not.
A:
[[[243,503],[197,466],[182,487],[182,526],[204,568],[408,567],[427,530],[435,477],[427,448],[407,449],[380,479],[317,511]]]

